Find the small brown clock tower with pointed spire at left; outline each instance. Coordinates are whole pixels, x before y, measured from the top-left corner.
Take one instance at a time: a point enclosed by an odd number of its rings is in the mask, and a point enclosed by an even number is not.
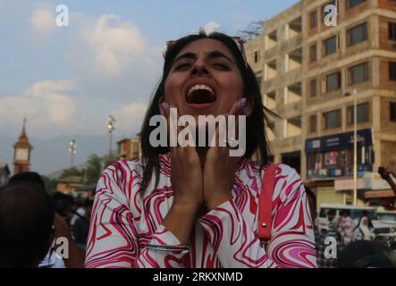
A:
[[[30,152],[33,147],[29,143],[26,135],[26,117],[23,119],[21,136],[13,144],[13,174],[20,172],[29,172]]]

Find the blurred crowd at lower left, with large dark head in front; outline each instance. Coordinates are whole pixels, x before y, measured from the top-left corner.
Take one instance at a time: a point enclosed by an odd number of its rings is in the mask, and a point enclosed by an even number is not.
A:
[[[36,172],[0,188],[0,267],[83,268],[93,201],[50,196]]]

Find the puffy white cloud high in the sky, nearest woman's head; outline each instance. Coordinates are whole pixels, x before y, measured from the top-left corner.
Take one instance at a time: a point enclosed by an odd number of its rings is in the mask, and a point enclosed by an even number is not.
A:
[[[120,75],[147,50],[139,29],[114,14],[100,16],[85,38],[93,51],[95,70],[109,76]]]

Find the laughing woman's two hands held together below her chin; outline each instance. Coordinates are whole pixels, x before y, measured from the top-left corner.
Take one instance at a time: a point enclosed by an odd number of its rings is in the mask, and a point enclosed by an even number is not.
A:
[[[165,104],[168,124],[170,105]],[[172,106],[172,108],[174,108]],[[234,103],[230,115],[244,114],[245,106]],[[180,127],[174,127],[180,131]],[[218,139],[218,126],[215,137]],[[229,147],[207,147],[204,158],[199,158],[197,147],[171,147],[171,182],[174,189],[173,205],[189,207],[198,211],[202,206],[207,210],[232,199],[232,186],[240,157],[230,156]],[[206,153],[206,156],[205,156]],[[202,156],[202,155],[201,155]],[[203,164],[203,166],[202,166]]]

